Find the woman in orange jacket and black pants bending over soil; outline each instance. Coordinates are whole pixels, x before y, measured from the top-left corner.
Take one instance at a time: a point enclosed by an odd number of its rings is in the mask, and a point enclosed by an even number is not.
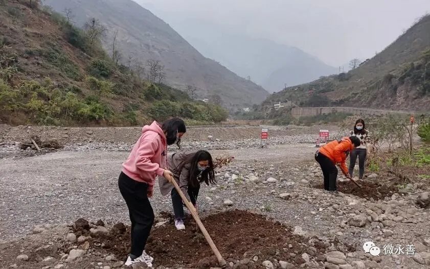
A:
[[[327,143],[315,153],[315,160],[320,164],[323,170],[325,190],[336,190],[336,165],[341,167],[342,172],[347,178],[351,177],[348,173],[345,160],[348,154],[359,145],[360,139],[358,139],[358,137],[344,137],[342,140],[334,140]]]

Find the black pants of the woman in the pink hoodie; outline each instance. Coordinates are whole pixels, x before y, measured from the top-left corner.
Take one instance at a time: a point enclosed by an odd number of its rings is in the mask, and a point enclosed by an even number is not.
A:
[[[135,181],[121,172],[118,186],[130,214],[130,254],[139,257],[145,250],[146,241],[154,223],[154,211],[147,195],[148,184]]]

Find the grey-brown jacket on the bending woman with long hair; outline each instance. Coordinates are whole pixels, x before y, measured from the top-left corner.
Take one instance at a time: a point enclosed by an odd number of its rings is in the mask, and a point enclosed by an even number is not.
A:
[[[190,179],[191,159],[197,151],[186,151],[169,154],[167,156],[167,164],[173,178],[179,188],[184,192],[188,200],[188,182]],[[173,185],[164,177],[159,178],[160,192],[162,195],[167,195],[173,189]]]

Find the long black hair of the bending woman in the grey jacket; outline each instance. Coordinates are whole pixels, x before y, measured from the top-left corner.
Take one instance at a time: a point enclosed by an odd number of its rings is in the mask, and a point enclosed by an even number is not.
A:
[[[197,168],[199,161],[209,161],[209,166],[203,172],[201,172],[201,177],[198,177],[200,175],[200,171]],[[212,160],[211,154],[207,151],[198,151],[191,159],[189,184],[192,187],[198,187],[201,182],[205,182],[206,185],[216,184],[214,162]]]

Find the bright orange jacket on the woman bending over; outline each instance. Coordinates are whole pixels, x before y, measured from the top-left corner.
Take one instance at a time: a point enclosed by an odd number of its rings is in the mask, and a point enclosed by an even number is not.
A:
[[[324,154],[335,164],[341,166],[342,172],[348,175],[348,168],[346,166],[345,160],[347,157],[347,152],[351,152],[354,149],[354,144],[351,142],[349,137],[344,137],[342,140],[331,141],[326,145],[322,146],[320,153]]]

